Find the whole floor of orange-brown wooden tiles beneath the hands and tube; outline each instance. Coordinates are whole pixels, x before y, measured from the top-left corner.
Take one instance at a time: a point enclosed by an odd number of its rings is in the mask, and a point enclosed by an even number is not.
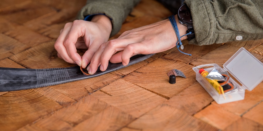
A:
[[[85,0],[2,0],[0,67],[75,66],[57,57],[53,45]],[[167,18],[154,0],[142,0],[122,32]],[[170,49],[99,77],[22,91],[0,92],[0,130],[263,130],[263,82],[245,99],[217,104],[196,81],[197,65],[222,66],[240,47],[263,62],[263,40]],[[82,50],[79,50],[83,54]],[[169,84],[167,72],[187,78]],[[1,72],[0,72],[1,73]]]

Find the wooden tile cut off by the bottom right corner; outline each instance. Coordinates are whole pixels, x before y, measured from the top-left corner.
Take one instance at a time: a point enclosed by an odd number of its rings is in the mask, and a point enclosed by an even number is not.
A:
[[[263,125],[260,125],[259,123],[255,121],[251,121],[246,118],[241,118],[238,121],[234,122],[233,124],[229,125],[225,130],[223,131],[261,131],[263,130]]]

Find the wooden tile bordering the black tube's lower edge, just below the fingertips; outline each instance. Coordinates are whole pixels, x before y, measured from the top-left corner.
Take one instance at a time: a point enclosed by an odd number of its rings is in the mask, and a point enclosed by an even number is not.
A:
[[[104,86],[116,81],[117,79],[120,79],[120,77],[118,77],[117,74],[113,72],[94,78],[54,85],[50,87],[74,100],[79,100],[88,94],[98,91]]]

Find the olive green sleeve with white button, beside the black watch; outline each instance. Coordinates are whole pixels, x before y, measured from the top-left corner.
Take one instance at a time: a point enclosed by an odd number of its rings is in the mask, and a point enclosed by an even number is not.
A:
[[[259,0],[185,0],[191,10],[195,38],[190,44],[209,45],[263,38],[263,2]]]

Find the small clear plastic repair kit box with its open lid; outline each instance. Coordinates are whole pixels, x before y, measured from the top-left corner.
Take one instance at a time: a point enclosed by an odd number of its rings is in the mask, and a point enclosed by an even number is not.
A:
[[[221,68],[217,64],[199,65],[193,68],[196,73],[196,80],[203,86],[209,95],[218,103],[228,103],[245,98],[245,89],[252,91],[263,80],[263,64],[255,56],[241,47]],[[236,88],[227,93],[219,94],[214,87],[199,73],[199,70],[210,72],[214,68],[219,72],[228,71],[240,82],[239,85],[234,79],[229,78]]]

